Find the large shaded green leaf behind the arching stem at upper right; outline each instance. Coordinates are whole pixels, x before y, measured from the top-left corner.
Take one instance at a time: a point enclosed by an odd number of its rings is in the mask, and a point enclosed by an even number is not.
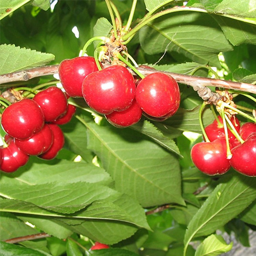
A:
[[[210,24],[210,27],[204,24]],[[167,50],[179,62],[192,60],[220,68],[217,55],[221,51],[232,50],[215,20],[208,14],[198,12],[164,15],[140,29],[139,36],[147,54]]]

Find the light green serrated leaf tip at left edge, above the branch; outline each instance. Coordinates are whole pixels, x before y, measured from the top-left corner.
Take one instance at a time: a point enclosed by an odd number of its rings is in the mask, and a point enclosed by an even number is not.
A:
[[[45,65],[54,59],[50,53],[15,47],[14,45],[0,45],[0,75]]]

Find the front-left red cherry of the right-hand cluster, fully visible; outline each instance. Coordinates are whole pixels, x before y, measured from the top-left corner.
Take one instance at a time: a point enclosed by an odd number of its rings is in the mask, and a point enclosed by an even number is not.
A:
[[[228,171],[230,164],[226,155],[226,140],[222,138],[212,142],[197,143],[191,150],[193,163],[207,175],[219,175]]]

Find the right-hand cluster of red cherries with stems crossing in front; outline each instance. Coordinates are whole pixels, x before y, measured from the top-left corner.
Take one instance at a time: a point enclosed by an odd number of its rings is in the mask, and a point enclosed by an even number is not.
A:
[[[230,121],[238,132],[243,143],[227,129],[231,158],[227,158],[227,144],[222,118],[219,122],[205,127],[210,142],[201,142],[193,146],[191,159],[201,172],[207,175],[220,175],[233,167],[246,176],[256,176],[256,123],[246,122],[240,127],[237,117],[231,116]]]

